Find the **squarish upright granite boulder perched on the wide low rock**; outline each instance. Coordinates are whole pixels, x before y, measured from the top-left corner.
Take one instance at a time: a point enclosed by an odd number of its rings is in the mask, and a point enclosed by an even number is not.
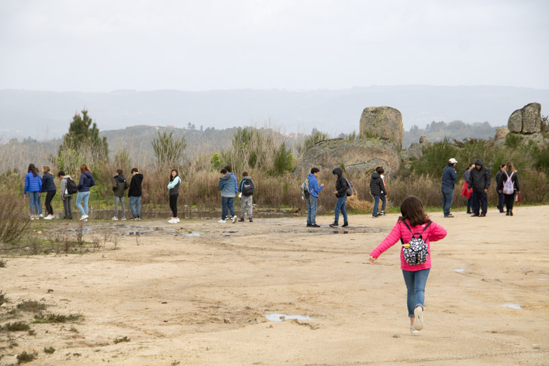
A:
[[[401,149],[403,133],[402,114],[397,109],[390,106],[371,106],[362,111],[360,135],[386,137]]]

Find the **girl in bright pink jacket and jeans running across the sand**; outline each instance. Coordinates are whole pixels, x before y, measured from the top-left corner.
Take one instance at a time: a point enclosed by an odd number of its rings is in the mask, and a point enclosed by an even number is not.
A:
[[[392,247],[401,238],[404,243],[410,242],[413,233],[421,233],[421,237],[427,244],[427,260],[423,264],[410,265],[404,260],[400,249],[400,268],[406,282],[408,297],[408,317],[410,317],[410,332],[416,334],[423,329],[423,301],[425,300],[425,283],[431,268],[431,247],[429,242],[436,242],[446,236],[446,230],[441,225],[431,222],[423,211],[423,203],[416,196],[404,198],[400,205],[402,216],[390,231],[389,235],[370,253],[370,264],[374,264],[379,255]],[[430,222],[430,224],[429,224]],[[410,229],[408,229],[408,227]],[[423,231],[425,230],[425,231]],[[422,233],[423,231],[423,233]]]

